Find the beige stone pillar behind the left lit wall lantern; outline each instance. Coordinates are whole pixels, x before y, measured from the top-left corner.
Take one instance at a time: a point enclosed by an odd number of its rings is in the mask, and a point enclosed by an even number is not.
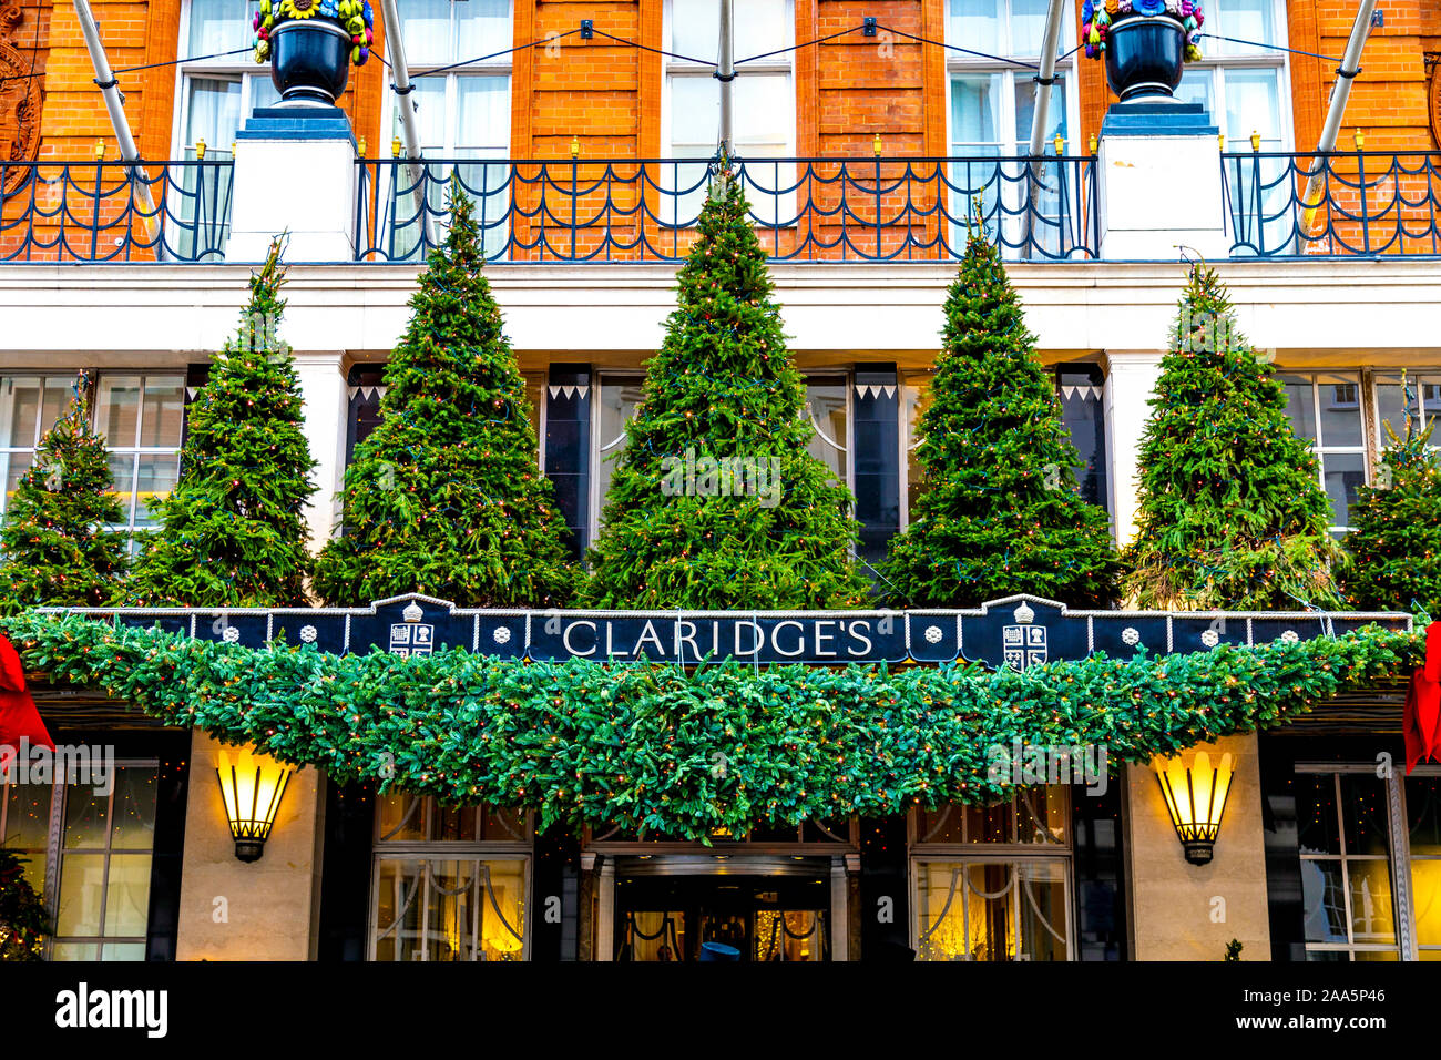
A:
[[[291,776],[265,854],[246,864],[225,818],[218,748],[195,731],[176,960],[314,960],[324,780],[316,769]]]

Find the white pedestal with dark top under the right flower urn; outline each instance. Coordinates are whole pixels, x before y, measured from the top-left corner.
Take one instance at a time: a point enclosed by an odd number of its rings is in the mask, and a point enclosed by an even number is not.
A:
[[[1097,160],[1102,260],[1229,254],[1218,133],[1199,102],[1111,105]]]

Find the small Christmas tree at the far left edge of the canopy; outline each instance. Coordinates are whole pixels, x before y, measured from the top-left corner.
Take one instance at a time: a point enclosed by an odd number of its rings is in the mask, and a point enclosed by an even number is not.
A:
[[[16,485],[0,531],[0,607],[17,611],[102,607],[115,601],[125,574],[125,522],[105,456],[91,430],[85,376],[69,410],[40,440],[35,463]]]

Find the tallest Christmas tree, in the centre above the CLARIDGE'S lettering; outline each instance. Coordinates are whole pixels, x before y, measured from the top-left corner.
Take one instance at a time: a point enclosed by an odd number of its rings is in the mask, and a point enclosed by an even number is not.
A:
[[[806,384],[746,213],[722,156],[625,427],[589,604],[837,607],[866,593],[850,492],[807,451]]]

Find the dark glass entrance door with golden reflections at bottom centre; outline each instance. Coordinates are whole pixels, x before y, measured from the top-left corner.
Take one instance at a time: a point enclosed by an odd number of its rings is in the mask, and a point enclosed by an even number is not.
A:
[[[829,960],[824,877],[615,881],[617,960]]]

